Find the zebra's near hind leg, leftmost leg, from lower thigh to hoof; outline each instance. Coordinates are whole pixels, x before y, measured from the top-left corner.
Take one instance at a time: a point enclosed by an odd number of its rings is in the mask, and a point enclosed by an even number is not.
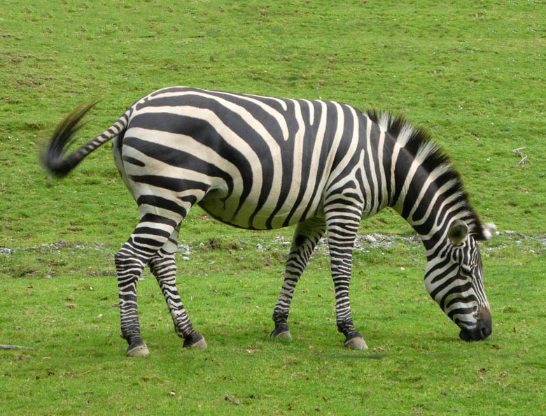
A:
[[[127,356],[142,357],[149,353],[141,338],[137,308],[137,282],[148,261],[172,235],[181,218],[172,220],[153,214],[141,217],[127,243],[115,256],[120,296],[121,336],[127,340]]]

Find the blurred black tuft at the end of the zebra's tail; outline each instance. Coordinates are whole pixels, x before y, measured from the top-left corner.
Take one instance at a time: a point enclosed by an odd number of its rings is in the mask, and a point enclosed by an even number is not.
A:
[[[55,133],[50,138],[50,141],[41,150],[40,160],[45,169],[52,175],[59,178],[67,175],[78,163],[81,162],[84,155],[78,155],[78,152],[73,152],[68,156],[66,151],[76,140],[73,136],[85,126],[82,123],[83,117],[97,104],[94,101],[89,105],[82,107],[78,106],[66,116],[64,120],[57,126]]]

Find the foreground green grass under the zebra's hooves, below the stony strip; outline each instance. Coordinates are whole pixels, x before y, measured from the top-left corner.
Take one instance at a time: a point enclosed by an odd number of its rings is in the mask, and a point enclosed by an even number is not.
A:
[[[80,260],[85,268],[62,276],[0,280],[1,292],[10,294],[2,310],[17,315],[0,315],[3,339],[36,348],[2,352],[3,413],[183,409],[253,415],[320,408],[331,415],[510,415],[545,410],[539,328],[546,290],[535,286],[543,243],[517,244],[503,237],[484,250],[486,270],[495,277],[487,280],[494,327],[491,338],[480,343],[458,340],[454,325],[428,298],[419,278],[423,261],[414,259],[419,245],[397,241],[384,250],[385,257],[359,252],[353,306],[370,350],[354,352],[342,348],[342,336],[334,331],[323,250],[298,287],[290,318],[293,341],[269,338],[282,272],[280,261],[271,259],[283,249],[278,241],[261,241],[269,250],[260,252],[249,241],[232,251],[204,246],[179,263],[186,307],[207,336],[209,350],[181,349],[149,273],[139,283],[142,332],[151,349],[146,359],[124,357],[116,282],[102,275],[104,266],[93,255]],[[49,255],[69,259],[74,250],[64,246]],[[210,265],[217,258],[211,251],[230,261]],[[386,264],[393,259],[398,260]],[[519,275],[522,263],[525,276],[507,278]]]

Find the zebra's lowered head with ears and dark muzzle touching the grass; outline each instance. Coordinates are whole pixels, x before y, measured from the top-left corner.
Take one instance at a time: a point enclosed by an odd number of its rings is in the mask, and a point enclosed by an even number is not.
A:
[[[491,334],[491,312],[484,292],[482,257],[477,241],[491,238],[494,224],[469,232],[468,224],[454,220],[440,250],[428,257],[425,286],[430,296],[461,328],[462,340],[482,340]]]

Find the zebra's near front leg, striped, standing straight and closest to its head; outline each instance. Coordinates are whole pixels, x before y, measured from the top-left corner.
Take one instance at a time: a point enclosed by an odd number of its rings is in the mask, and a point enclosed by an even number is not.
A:
[[[350,212],[350,211],[349,211]],[[344,345],[351,350],[367,350],[362,333],[356,330],[349,301],[349,283],[351,282],[351,268],[353,245],[358,230],[358,221],[347,213],[328,215],[328,247],[332,280],[335,289],[335,312],[337,331],[345,336]]]

